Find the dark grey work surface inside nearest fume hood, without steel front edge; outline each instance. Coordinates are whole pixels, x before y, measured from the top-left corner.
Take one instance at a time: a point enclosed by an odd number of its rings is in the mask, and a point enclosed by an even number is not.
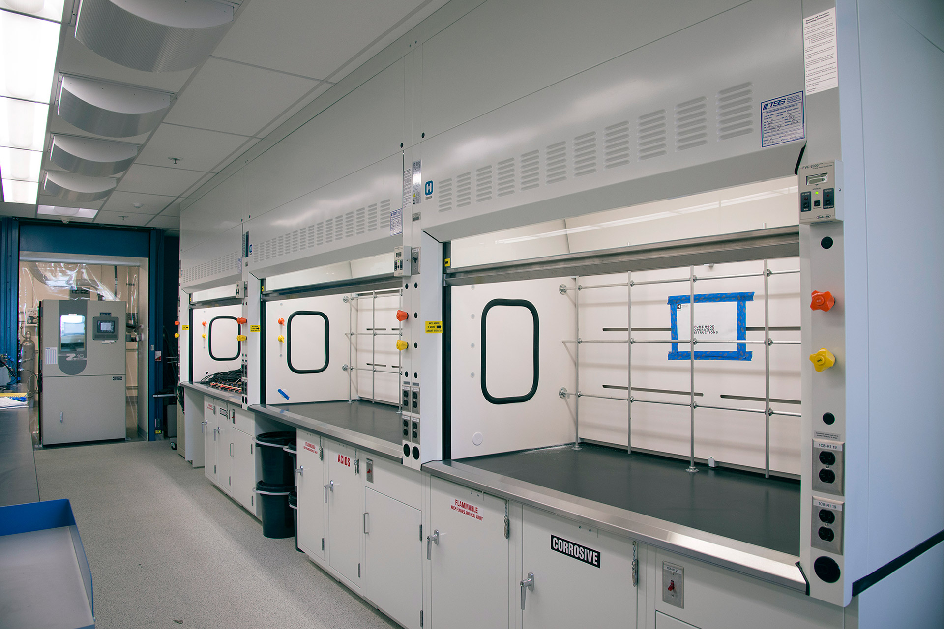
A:
[[[462,459],[466,465],[724,538],[800,555],[800,482],[582,444]]]

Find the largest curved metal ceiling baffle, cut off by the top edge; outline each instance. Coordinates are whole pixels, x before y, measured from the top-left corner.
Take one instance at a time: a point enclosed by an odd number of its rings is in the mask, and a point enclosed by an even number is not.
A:
[[[82,0],[76,40],[144,72],[189,70],[227,34],[233,8],[213,0]]]

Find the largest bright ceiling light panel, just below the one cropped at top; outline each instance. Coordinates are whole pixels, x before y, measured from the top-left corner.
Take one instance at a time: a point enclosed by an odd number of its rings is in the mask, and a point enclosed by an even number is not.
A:
[[[49,102],[56,74],[59,28],[54,22],[0,11],[3,39],[0,95]]]

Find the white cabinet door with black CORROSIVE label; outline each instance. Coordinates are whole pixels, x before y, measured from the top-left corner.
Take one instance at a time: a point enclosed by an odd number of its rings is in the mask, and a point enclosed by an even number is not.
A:
[[[521,539],[521,579],[534,575],[522,629],[635,626],[631,540],[528,506]]]

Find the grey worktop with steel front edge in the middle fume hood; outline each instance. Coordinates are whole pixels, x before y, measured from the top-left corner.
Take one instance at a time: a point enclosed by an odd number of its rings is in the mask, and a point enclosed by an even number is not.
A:
[[[402,416],[397,407],[355,400],[250,406],[250,410],[379,455],[400,460]]]

